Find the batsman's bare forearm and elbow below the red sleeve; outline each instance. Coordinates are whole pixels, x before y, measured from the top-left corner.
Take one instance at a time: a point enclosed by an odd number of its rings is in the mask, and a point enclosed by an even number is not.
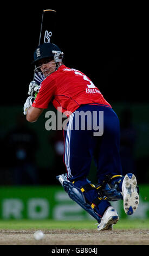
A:
[[[30,107],[27,111],[26,119],[30,123],[34,123],[38,120],[40,115],[42,114],[44,108]]]

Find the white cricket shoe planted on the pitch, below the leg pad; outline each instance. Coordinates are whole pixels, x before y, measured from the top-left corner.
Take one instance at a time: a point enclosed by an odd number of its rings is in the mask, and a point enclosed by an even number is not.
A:
[[[112,225],[119,221],[118,213],[112,206],[109,206],[98,224],[98,230],[112,230]]]

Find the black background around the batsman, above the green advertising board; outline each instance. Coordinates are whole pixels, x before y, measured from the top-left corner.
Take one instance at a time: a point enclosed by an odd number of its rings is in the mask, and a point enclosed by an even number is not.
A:
[[[4,4],[5,5],[5,4]],[[148,50],[146,7],[140,4],[59,2],[42,4],[20,2],[3,5],[1,39],[1,185],[13,185],[13,150],[5,147],[5,137],[16,125],[18,114],[23,115],[23,105],[28,97],[28,85],[33,80],[31,66],[38,46],[41,18],[44,9],[55,9],[56,36],[54,43],[64,52],[63,62],[70,68],[84,72],[98,87],[118,113],[121,124],[122,111],[131,119],[131,125],[121,127],[125,138],[123,147],[132,147],[134,173],[140,182],[149,182],[148,153]],[[49,106],[53,109],[52,106]],[[54,110],[54,109],[53,109]],[[26,122],[37,135],[36,151],[38,182],[25,177],[24,184],[57,184],[54,158],[56,132],[46,131],[44,115],[34,124]],[[126,124],[126,122],[125,122]],[[131,130],[132,129],[132,130]],[[139,131],[139,135],[135,132]],[[122,133],[122,134],[123,134]],[[132,134],[132,136],[131,136]],[[129,136],[130,135],[130,136]],[[147,136],[147,137],[146,137]],[[124,145],[124,141],[128,145]],[[47,144],[46,144],[47,143]],[[137,146],[135,145],[137,143]],[[125,149],[125,153],[128,150]],[[149,150],[148,150],[149,151]],[[124,162],[125,154],[123,155]],[[61,167],[60,167],[61,168]],[[131,164],[129,165],[131,170]],[[144,172],[142,176],[141,172]],[[66,172],[66,170],[65,170]],[[94,178],[94,167],[92,168]]]

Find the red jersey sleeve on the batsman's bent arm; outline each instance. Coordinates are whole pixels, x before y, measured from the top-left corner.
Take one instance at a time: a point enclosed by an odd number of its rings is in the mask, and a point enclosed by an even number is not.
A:
[[[37,108],[48,108],[49,102],[54,96],[55,89],[56,89],[55,81],[50,80],[49,78],[46,78],[46,80],[44,80],[41,83],[41,88],[32,106]]]

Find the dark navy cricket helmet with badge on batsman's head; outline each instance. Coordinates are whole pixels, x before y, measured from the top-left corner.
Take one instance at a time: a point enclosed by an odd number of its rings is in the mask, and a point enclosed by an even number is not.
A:
[[[33,64],[37,64],[38,60],[43,58],[53,57],[56,63],[62,62],[63,52],[60,48],[51,44],[50,42],[39,45],[34,52],[34,61]]]

